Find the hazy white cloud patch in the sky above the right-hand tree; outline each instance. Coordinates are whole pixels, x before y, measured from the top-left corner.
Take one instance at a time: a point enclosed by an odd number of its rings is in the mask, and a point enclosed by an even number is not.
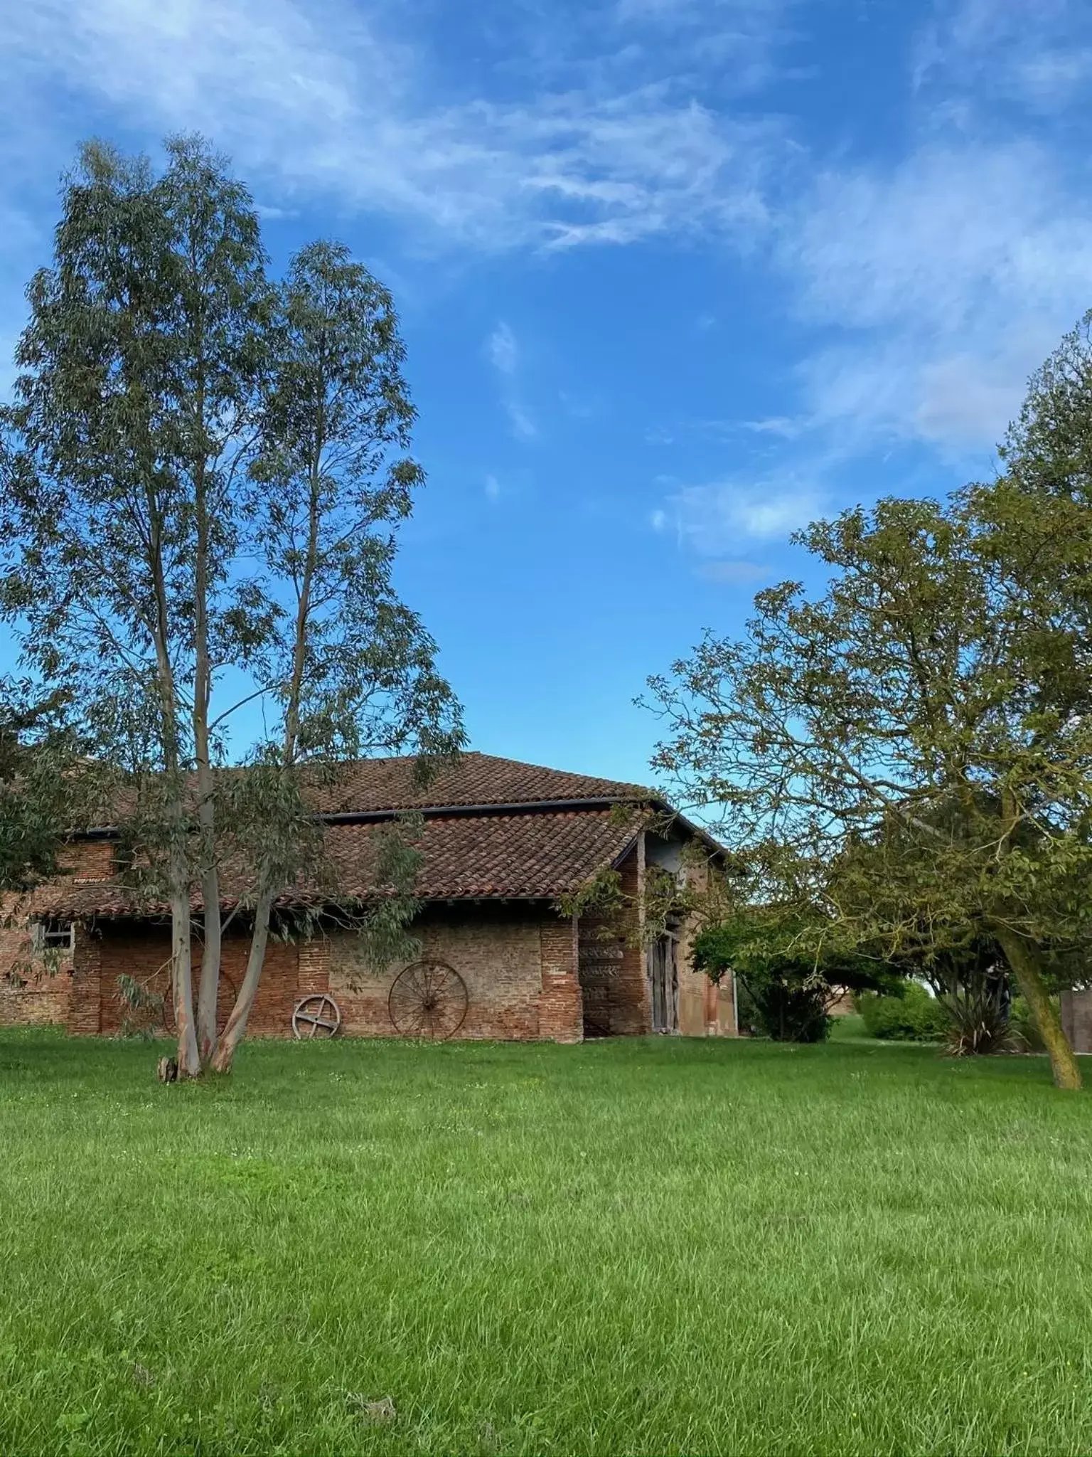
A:
[[[1034,143],[929,143],[824,173],[780,256],[837,339],[801,364],[811,427],[958,453],[1003,434],[1092,305],[1092,205]]]

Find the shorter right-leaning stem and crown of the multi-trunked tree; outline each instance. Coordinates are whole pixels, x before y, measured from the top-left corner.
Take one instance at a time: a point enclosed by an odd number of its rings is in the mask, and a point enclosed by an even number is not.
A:
[[[280,290],[277,345],[249,517],[265,573],[250,612],[268,622],[250,666],[278,708],[258,749],[249,817],[253,937],[246,975],[213,1065],[232,1065],[258,989],[280,890],[313,874],[306,781],[322,766],[462,743],[457,704],[435,669],[435,644],[392,583],[395,527],[412,510],[421,466],[406,455],[415,411],[389,291],[347,248],[317,242],[291,261]],[[236,806],[236,817],[242,810]],[[284,819],[296,832],[268,835]],[[402,864],[387,844],[383,877]],[[403,889],[408,889],[405,886]],[[396,931],[412,898],[386,898],[363,930]],[[214,1004],[213,1004],[214,1005]]]

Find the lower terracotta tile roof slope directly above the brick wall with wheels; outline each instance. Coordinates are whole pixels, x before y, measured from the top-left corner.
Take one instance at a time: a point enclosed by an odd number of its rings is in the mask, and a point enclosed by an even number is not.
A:
[[[598,785],[607,781],[591,782]],[[425,900],[555,899],[577,890],[596,870],[612,864],[632,842],[639,822],[636,810],[622,817],[612,809],[591,807],[556,813],[430,817],[418,842],[424,858],[416,893]],[[374,896],[380,889],[373,877],[376,828],[331,825],[326,835],[339,895],[345,900]],[[224,905],[232,906],[242,887],[232,884],[230,874],[223,879]],[[285,893],[281,903],[310,899],[307,892],[297,890]],[[192,903],[199,908],[199,899]],[[132,895],[116,880],[99,880],[58,884],[47,914],[82,919],[92,915],[157,915],[166,909],[144,905],[137,911]]]

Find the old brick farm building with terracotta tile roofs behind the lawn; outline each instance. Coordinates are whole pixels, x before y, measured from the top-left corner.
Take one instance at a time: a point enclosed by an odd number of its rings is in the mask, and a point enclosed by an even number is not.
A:
[[[684,848],[715,857],[699,829],[632,784],[565,774],[480,753],[464,755],[421,791],[411,759],[361,761],[316,793],[345,900],[373,892],[374,832],[399,812],[422,816],[414,925],[422,959],[466,986],[460,1037],[552,1039],[678,1032],[732,1034],[732,988],[689,969],[689,927],[668,922],[651,946],[639,935],[646,868],[702,873]],[[654,812],[649,828],[649,810]],[[119,992],[131,978],[149,1005],[169,998],[169,918],[138,908],[112,874],[115,836],[89,830],[68,847],[66,874],[7,905],[0,930],[0,1024],[57,1023],[114,1034],[137,1016]],[[622,921],[562,915],[559,899],[613,868]],[[226,892],[230,886],[226,884]],[[226,906],[230,906],[230,899]],[[195,902],[195,909],[199,905]],[[278,915],[291,928],[291,902]],[[226,1017],[246,962],[245,928],[229,927],[221,973]],[[294,1007],[325,992],[348,1036],[393,1036],[390,988],[402,967],[376,969],[360,938],[329,915],[322,931],[272,940],[249,1032],[290,1036]]]

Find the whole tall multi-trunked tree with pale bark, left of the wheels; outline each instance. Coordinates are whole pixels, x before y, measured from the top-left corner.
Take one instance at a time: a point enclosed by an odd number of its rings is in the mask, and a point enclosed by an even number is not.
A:
[[[319,255],[351,270],[336,249]],[[64,184],[54,265],[28,290],[3,418],[0,610],[31,669],[71,692],[103,756],[128,771],[137,880],[170,906],[186,1075],[230,1065],[268,908],[322,860],[300,763],[365,749],[383,688],[392,723],[403,711],[402,742],[459,742],[431,640],[390,590],[393,542],[386,576],[365,545],[377,523],[406,514],[419,481],[416,466],[387,460],[412,421],[393,310],[358,271],[355,313],[342,299],[341,315],[307,323],[307,278],[300,264],[285,287],[269,284],[253,204],[199,138],[169,141],[159,176],[146,159],[90,144]],[[322,360],[317,389],[307,348]],[[365,599],[371,619],[354,609]],[[224,678],[239,672],[252,682],[224,704]],[[282,731],[242,790],[215,771],[233,714],[255,698],[277,707]],[[229,852],[259,844],[252,966],[217,1056],[220,880]]]

